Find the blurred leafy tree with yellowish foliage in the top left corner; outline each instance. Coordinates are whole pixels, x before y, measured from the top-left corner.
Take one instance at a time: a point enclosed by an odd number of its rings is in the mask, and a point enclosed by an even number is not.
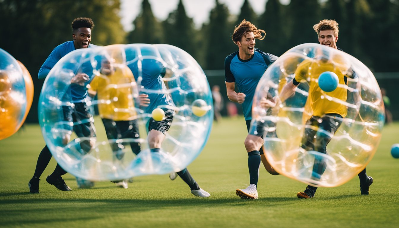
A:
[[[57,45],[72,40],[73,19],[93,19],[93,44],[122,43],[119,8],[120,0],[0,0],[1,29],[8,34],[0,37],[0,48],[24,63],[34,81],[34,101],[27,122],[38,119],[35,104],[43,85],[38,71]]]

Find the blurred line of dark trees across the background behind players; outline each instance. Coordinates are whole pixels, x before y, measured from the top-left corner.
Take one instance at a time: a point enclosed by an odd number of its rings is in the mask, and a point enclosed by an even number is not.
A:
[[[0,48],[22,61],[34,79],[28,122],[37,122],[41,64],[57,45],[72,40],[71,22],[82,16],[95,22],[93,44],[171,44],[191,54],[204,70],[223,69],[225,57],[238,50],[231,35],[243,19],[266,31],[265,40],[257,41],[256,47],[276,56],[299,44],[317,43],[312,26],[334,19],[340,24],[338,47],[374,72],[399,71],[395,39],[399,0],[291,0],[288,5],[267,0],[260,15],[248,0],[239,15],[232,15],[226,4],[215,0],[209,20],[200,28],[186,14],[182,0],[165,20],[153,14],[148,0],[142,0],[131,32],[125,32],[120,23],[120,5],[120,0],[0,0]]]

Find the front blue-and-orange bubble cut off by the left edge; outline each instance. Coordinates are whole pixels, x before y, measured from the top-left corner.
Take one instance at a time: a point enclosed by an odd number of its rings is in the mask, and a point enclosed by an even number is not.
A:
[[[14,134],[24,122],[29,111],[26,88],[18,61],[0,48],[0,140]]]

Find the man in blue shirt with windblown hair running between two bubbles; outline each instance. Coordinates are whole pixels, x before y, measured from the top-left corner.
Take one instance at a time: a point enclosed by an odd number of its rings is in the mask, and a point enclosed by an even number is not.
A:
[[[267,162],[265,155],[263,155],[262,134],[259,132],[260,135],[253,135],[250,132],[252,100],[255,89],[267,67],[277,59],[277,56],[255,48],[255,39],[263,40],[265,35],[266,32],[264,30],[258,29],[251,22],[244,19],[234,28],[233,36],[231,37],[234,44],[238,46],[238,51],[230,54],[225,59],[227,97],[229,97],[230,101],[243,105],[245,122],[249,132],[244,145],[248,153],[250,185],[245,189],[236,190],[236,194],[241,198],[258,198],[257,183],[261,161],[269,173],[278,174]],[[237,84],[239,93],[234,91],[234,83]]]

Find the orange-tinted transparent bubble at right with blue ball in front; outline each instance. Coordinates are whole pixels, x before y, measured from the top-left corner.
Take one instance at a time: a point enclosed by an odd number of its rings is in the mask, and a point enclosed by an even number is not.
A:
[[[318,86],[326,71],[339,78],[331,92]],[[294,91],[293,78],[300,82]],[[333,187],[352,179],[373,157],[384,107],[373,73],[358,59],[320,44],[302,44],[267,68],[252,116],[277,172],[312,186]]]

